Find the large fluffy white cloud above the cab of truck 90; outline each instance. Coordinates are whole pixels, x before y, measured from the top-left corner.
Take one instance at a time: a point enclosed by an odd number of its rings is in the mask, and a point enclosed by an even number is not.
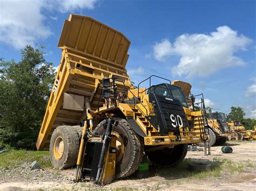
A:
[[[181,56],[173,75],[187,77],[208,76],[221,68],[244,66],[245,62],[235,56],[246,51],[250,38],[238,35],[228,26],[220,26],[210,34],[182,34],[173,43],[163,39],[153,46],[154,58],[165,61],[170,55]]]

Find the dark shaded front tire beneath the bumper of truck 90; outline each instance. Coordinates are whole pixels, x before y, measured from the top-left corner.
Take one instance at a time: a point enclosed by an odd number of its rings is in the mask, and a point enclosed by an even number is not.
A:
[[[146,153],[149,160],[156,166],[174,167],[184,160],[187,154],[187,144],[164,148],[163,150]]]

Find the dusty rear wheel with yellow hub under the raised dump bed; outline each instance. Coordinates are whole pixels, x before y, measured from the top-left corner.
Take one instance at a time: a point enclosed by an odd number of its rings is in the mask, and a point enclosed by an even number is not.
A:
[[[58,126],[50,141],[52,166],[65,169],[75,166],[79,151],[79,135],[76,126]]]

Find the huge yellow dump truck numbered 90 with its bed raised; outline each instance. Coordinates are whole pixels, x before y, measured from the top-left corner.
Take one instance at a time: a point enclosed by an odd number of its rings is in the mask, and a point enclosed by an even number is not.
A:
[[[133,89],[125,69],[129,46],[122,33],[95,19],[65,20],[58,43],[62,59],[36,144],[50,150],[55,168],[83,167],[78,161],[90,151],[83,150],[84,142],[90,136],[101,142],[109,118],[118,122],[111,131],[115,178],[135,172],[144,153],[156,165],[175,166],[185,158],[187,144],[205,141],[204,111],[189,109],[182,90],[190,84],[153,75]],[[152,84],[153,78],[164,83]],[[78,157],[79,148],[85,154]],[[80,169],[92,176],[95,166],[86,162]]]

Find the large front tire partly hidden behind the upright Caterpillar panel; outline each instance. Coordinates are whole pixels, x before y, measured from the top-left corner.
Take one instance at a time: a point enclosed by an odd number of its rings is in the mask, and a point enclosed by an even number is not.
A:
[[[119,123],[112,129],[112,136],[117,137],[116,179],[125,178],[137,171],[143,158],[143,147],[140,138],[133,132],[125,119],[118,119]],[[103,125],[100,122],[95,133],[103,135]]]

